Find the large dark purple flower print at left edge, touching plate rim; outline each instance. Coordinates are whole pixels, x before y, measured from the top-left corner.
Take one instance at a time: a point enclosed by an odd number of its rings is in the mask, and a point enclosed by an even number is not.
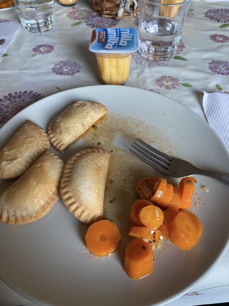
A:
[[[5,123],[20,110],[23,110],[26,106],[44,98],[42,94],[38,94],[37,91],[16,91],[13,94],[10,93],[0,99],[0,124]]]

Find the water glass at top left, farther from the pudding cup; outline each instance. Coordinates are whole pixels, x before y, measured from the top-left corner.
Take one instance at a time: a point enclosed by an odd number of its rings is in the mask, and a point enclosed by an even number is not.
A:
[[[56,24],[53,0],[14,0],[22,27],[29,32],[45,32]]]

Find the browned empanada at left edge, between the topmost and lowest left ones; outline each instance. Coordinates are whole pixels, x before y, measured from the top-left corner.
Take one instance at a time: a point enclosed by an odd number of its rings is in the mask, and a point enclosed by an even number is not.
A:
[[[46,132],[27,120],[0,152],[0,179],[22,176],[49,145]]]

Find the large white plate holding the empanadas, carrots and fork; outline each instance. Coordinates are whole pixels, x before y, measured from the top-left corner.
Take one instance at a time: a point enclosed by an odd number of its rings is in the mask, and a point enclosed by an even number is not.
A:
[[[47,129],[55,114],[81,99],[103,103],[109,112],[141,116],[161,131],[157,141],[166,134],[168,145],[178,157],[202,168],[229,173],[227,149],[198,115],[165,96],[124,86],[76,88],[32,104],[0,129],[0,149],[26,119]],[[77,144],[59,156],[66,162],[76,151]],[[205,278],[229,247],[229,188],[218,181],[213,184],[208,177],[196,178],[195,200],[201,208],[199,218],[204,228],[201,241],[191,251],[171,246],[158,253],[150,276],[139,281],[130,279],[115,255],[97,260],[85,256],[83,242],[81,247],[78,245],[84,241],[87,226],[59,200],[37,222],[23,226],[0,224],[1,279],[41,305],[146,306],[175,299]],[[11,183],[1,181],[0,192]],[[211,187],[210,192],[205,194],[202,185]],[[128,222],[127,213],[122,220]]]

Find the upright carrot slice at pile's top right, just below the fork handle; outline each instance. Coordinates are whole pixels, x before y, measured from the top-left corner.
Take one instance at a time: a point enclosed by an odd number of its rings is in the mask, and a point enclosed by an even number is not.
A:
[[[184,177],[180,181],[179,186],[183,188],[182,200],[180,204],[181,209],[189,209],[192,202],[192,196],[195,191],[195,182],[196,180],[194,177]]]

